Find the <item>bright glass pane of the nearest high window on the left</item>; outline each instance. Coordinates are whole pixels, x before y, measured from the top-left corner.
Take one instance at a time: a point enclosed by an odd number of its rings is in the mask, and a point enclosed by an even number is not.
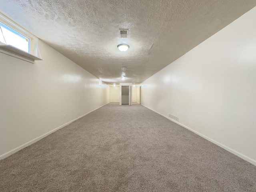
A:
[[[30,39],[0,22],[0,42],[30,53]]]

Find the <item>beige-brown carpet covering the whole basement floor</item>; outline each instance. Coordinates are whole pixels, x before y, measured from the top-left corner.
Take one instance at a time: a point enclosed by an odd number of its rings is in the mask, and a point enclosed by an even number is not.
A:
[[[1,160],[0,191],[256,192],[256,166],[139,104],[110,103]]]

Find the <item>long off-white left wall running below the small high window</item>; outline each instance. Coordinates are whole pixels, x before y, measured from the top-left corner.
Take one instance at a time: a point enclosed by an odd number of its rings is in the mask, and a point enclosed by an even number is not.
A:
[[[109,102],[98,78],[40,40],[38,47],[35,64],[0,53],[0,159]]]

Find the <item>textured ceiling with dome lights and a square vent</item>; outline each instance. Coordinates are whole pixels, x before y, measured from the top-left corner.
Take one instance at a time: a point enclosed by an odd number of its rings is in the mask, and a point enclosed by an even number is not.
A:
[[[0,0],[0,12],[107,84],[143,82],[254,6],[255,0]],[[130,45],[127,52],[120,43]]]

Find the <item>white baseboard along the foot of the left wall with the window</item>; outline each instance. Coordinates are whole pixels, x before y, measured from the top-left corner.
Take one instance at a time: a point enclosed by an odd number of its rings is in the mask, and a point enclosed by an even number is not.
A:
[[[108,102],[108,103],[110,103],[110,102]],[[108,103],[106,103],[106,104],[108,104]],[[104,105],[106,105],[106,104],[104,104]],[[27,147],[27,146],[30,146],[31,144],[33,144],[33,143],[39,141],[40,139],[42,139],[42,138],[44,138],[44,137],[50,135],[51,133],[53,133],[53,132],[55,132],[55,131],[57,131],[57,130],[59,130],[59,129],[65,127],[65,126],[67,126],[68,124],[70,124],[70,123],[72,123],[72,122],[74,122],[74,121],[76,121],[76,120],[82,118],[83,116],[86,116],[87,114],[89,114],[89,113],[91,113],[91,112],[93,112],[93,111],[95,111],[95,110],[97,110],[97,109],[103,107],[104,105],[102,105],[102,106],[100,106],[100,107],[98,107],[98,108],[96,108],[96,109],[94,109],[94,110],[92,110],[92,111],[90,111],[90,112],[88,112],[88,113],[86,113],[86,114],[83,114],[82,116],[80,116],[80,117],[78,117],[78,118],[76,118],[76,119],[74,119],[74,120],[72,120],[72,121],[70,121],[70,122],[67,122],[67,123],[65,123],[65,124],[62,125],[62,126],[59,126],[59,127],[55,128],[54,130],[51,130],[51,131],[49,131],[49,132],[47,132],[47,133],[45,133],[45,134],[43,134],[43,135],[41,135],[41,136],[39,136],[39,137],[37,137],[37,138],[31,140],[31,141],[29,141],[29,142],[26,142],[26,143],[24,143],[24,144],[22,144],[22,145],[20,145],[20,146],[18,146],[18,147],[16,147],[16,148],[14,148],[14,149],[8,151],[8,152],[6,152],[6,153],[0,155],[0,160],[2,160],[2,159],[4,159],[4,158],[6,158],[6,157],[8,157],[8,156],[10,156],[10,155],[12,155],[12,154],[18,152],[19,150],[22,150],[23,148],[25,148],[25,147]]]

